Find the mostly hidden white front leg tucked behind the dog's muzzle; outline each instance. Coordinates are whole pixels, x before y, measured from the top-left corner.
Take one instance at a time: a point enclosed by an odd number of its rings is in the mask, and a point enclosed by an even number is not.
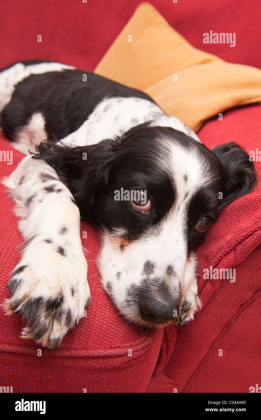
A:
[[[193,320],[194,314],[201,308],[197,285],[197,260],[194,253],[188,258],[184,276],[184,299],[180,308],[180,324]]]

